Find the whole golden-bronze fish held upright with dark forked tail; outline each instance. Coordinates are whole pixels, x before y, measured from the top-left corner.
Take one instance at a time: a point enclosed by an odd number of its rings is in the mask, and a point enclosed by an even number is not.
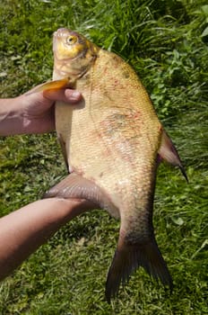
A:
[[[83,198],[120,220],[106,282],[108,303],[140,266],[171,291],[152,212],[161,161],[178,166],[187,180],[177,148],[123,58],[65,28],[54,32],[53,51],[53,79],[35,92],[70,87],[82,93],[82,100],[56,102],[56,133],[69,175],[46,197]]]

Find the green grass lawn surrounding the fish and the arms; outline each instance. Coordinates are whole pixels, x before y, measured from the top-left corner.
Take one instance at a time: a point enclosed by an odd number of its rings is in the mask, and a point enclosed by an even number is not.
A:
[[[108,305],[104,285],[119,222],[104,211],[68,223],[0,285],[1,314],[206,314],[208,6],[206,1],[2,1],[1,96],[50,78],[58,27],[81,31],[125,58],[142,78],[177,144],[189,184],[160,166],[156,237],[172,295],[138,270]],[[65,175],[56,135],[0,139],[0,213],[39,199]]]

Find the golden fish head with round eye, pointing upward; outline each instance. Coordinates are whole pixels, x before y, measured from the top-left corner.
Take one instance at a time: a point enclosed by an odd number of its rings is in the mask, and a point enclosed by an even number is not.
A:
[[[54,71],[56,78],[82,76],[97,58],[99,48],[76,31],[65,28],[54,32]]]

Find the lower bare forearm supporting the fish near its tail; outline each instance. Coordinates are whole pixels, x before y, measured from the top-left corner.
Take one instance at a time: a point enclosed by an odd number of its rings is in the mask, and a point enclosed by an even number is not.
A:
[[[0,280],[75,216],[95,209],[92,202],[48,198],[32,202],[0,219]]]

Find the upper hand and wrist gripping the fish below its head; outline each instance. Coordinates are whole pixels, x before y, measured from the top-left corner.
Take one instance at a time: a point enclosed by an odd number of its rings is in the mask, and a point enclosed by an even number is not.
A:
[[[55,130],[56,101],[77,103],[82,95],[63,88],[48,93],[26,93],[14,98],[0,99],[0,136],[44,133]]]

